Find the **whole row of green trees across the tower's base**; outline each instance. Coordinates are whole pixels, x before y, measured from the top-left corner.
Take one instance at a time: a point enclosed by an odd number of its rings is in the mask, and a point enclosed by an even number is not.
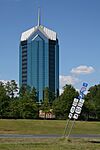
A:
[[[0,118],[39,119],[39,111],[52,110],[55,119],[67,119],[73,102],[79,93],[72,85],[65,85],[63,93],[56,97],[48,87],[44,89],[44,100],[37,103],[37,91],[33,87],[18,85],[14,80],[0,82]],[[100,120],[100,84],[92,86],[84,97],[80,120]]]

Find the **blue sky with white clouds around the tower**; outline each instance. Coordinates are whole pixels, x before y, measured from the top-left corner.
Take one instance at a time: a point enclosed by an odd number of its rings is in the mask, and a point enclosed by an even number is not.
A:
[[[57,32],[60,89],[100,83],[100,0],[0,0],[0,80],[19,81],[21,33],[37,25]]]

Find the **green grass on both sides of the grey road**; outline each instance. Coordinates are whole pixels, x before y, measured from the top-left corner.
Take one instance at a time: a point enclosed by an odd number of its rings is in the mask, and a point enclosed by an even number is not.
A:
[[[66,121],[0,120],[0,134],[60,134]],[[71,125],[71,124],[70,124]],[[77,121],[76,134],[100,134],[100,122]],[[0,139],[0,150],[100,150],[100,139]]]

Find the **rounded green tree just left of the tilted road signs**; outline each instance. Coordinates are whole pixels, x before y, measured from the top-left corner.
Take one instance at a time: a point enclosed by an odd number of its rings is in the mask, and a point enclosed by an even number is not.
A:
[[[53,112],[57,119],[66,119],[71,108],[73,99],[78,92],[72,85],[65,85],[63,93],[53,102]]]

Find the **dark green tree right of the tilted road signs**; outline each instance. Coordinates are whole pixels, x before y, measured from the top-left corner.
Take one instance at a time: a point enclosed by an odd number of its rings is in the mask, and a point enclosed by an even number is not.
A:
[[[100,120],[100,84],[90,87],[85,97],[83,114],[88,115],[88,120]]]

